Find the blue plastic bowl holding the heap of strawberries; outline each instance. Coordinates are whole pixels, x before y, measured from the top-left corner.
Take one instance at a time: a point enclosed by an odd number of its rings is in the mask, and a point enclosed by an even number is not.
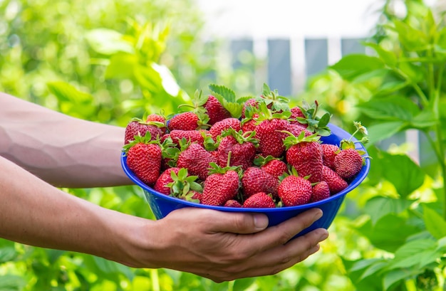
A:
[[[341,142],[342,139],[348,139],[351,137],[351,134],[346,132],[345,130],[337,127],[336,125],[329,124],[328,127],[331,129],[331,135],[328,137],[321,137],[321,141],[326,144],[337,144]],[[361,149],[366,152],[365,148],[357,143],[357,149]],[[320,208],[323,211],[323,216],[318,219],[318,221],[314,222],[310,227],[306,228],[304,231],[301,231],[297,236],[304,235],[309,231],[313,231],[316,228],[326,228],[328,229],[333,223],[333,219],[343,203],[346,194],[348,192],[355,189],[367,176],[368,171],[370,169],[370,160],[365,159],[365,165],[363,169],[356,175],[356,178],[351,181],[346,189],[333,196],[330,196],[328,199],[323,201],[316,201],[313,203],[308,203],[305,205],[299,206],[289,206],[289,207],[280,207],[280,208],[232,208],[232,207],[223,207],[223,206],[209,206],[199,203],[193,203],[190,201],[184,201],[182,199],[177,199],[175,197],[167,196],[158,191],[147,186],[144,182],[138,179],[135,174],[128,168],[127,166],[127,157],[124,154],[121,155],[121,164],[130,179],[140,186],[144,191],[145,198],[149,203],[152,212],[155,214],[157,219],[164,218],[171,211],[175,209],[183,208],[183,207],[197,207],[197,208],[207,208],[214,209],[218,211],[227,211],[227,212],[259,212],[264,213],[269,218],[269,226],[276,226],[277,224],[286,221],[289,218],[297,216],[299,213],[302,213],[310,208]]]

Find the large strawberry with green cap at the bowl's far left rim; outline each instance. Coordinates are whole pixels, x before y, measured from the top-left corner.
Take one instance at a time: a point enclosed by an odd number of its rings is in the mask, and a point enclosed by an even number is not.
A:
[[[162,150],[158,140],[152,141],[150,132],[123,148],[127,155],[127,165],[135,176],[148,186],[153,186],[160,176]]]

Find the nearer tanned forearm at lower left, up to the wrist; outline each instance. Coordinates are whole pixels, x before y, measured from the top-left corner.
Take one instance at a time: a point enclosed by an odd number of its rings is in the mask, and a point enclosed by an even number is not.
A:
[[[155,222],[67,194],[0,157],[0,237],[133,265],[132,250]]]

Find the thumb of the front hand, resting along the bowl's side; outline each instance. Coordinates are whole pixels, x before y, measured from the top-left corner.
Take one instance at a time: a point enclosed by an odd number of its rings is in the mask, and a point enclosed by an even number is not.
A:
[[[246,234],[263,231],[268,226],[268,217],[263,213],[216,212],[210,231]]]

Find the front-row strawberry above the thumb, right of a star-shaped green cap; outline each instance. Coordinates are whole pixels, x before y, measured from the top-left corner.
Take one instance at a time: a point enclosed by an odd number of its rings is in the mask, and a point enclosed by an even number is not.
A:
[[[201,202],[206,205],[222,206],[229,199],[237,196],[240,188],[240,179],[234,167],[220,168],[212,163],[213,169],[204,181]]]

